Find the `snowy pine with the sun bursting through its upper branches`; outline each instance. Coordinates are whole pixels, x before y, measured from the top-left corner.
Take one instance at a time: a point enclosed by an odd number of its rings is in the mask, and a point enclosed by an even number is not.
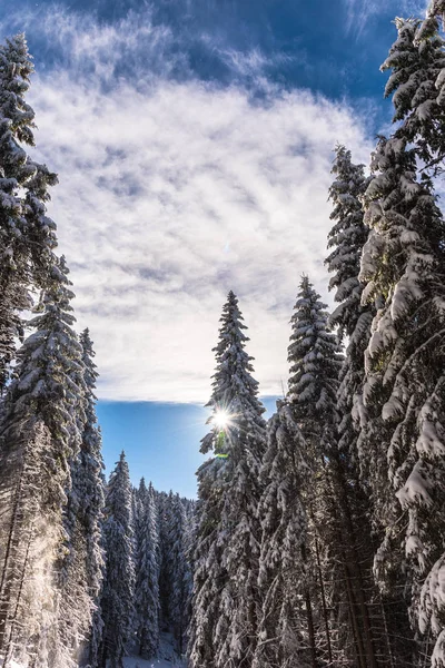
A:
[[[201,443],[201,452],[214,456],[198,471],[192,668],[251,666],[259,613],[256,511],[266,430],[258,384],[250,375],[251,357],[245,351],[246,326],[233,292],[220,322],[208,403],[212,429]]]

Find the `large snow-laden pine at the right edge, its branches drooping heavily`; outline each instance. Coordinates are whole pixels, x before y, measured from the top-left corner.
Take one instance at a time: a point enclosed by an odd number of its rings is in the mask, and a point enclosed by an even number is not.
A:
[[[364,197],[372,232],[360,277],[364,299],[383,298],[366,352],[364,397],[380,416],[374,434],[380,449],[369,453],[375,521],[384,533],[375,570],[385,581],[388,571],[403,569],[413,623],[427,631],[432,622],[438,635],[433,666],[443,666],[442,595],[434,587],[419,593],[445,549],[445,226],[429,180],[416,178],[417,155],[398,137],[380,138],[373,155]],[[436,608],[429,605],[435,597]]]

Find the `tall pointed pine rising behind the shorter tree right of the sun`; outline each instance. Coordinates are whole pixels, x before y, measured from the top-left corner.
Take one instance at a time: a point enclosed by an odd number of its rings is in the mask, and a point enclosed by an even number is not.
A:
[[[301,492],[308,517],[308,538],[303,550],[303,561],[308,573],[305,609],[313,667],[317,666],[325,654],[327,661],[334,660],[323,573],[317,564],[317,540],[320,533],[317,525],[317,502],[325,495],[330,495],[326,462],[330,462],[337,448],[336,395],[343,357],[334,334],[328,331],[328,314],[325,308],[326,305],[320,302],[308,277],[303,276],[290,321],[288,403],[306,443],[306,461],[310,471]],[[330,508],[330,515],[332,511]],[[328,517],[325,517],[324,523],[327,524],[328,521]]]

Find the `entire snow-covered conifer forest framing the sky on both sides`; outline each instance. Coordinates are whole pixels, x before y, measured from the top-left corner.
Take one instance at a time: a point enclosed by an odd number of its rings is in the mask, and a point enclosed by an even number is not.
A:
[[[369,168],[335,148],[335,308],[299,267],[269,420],[228,293],[197,501],[135,488],[125,452],[105,475],[32,59],[0,46],[2,668],[445,667],[443,21],[445,0],[396,19]]]

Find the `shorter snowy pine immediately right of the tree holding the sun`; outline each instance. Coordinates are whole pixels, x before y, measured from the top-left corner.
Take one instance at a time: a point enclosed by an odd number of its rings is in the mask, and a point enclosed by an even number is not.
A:
[[[301,499],[306,445],[286,402],[267,425],[261,466],[264,488],[259,587],[261,613],[254,668],[310,666],[307,616],[304,609],[307,518]]]

